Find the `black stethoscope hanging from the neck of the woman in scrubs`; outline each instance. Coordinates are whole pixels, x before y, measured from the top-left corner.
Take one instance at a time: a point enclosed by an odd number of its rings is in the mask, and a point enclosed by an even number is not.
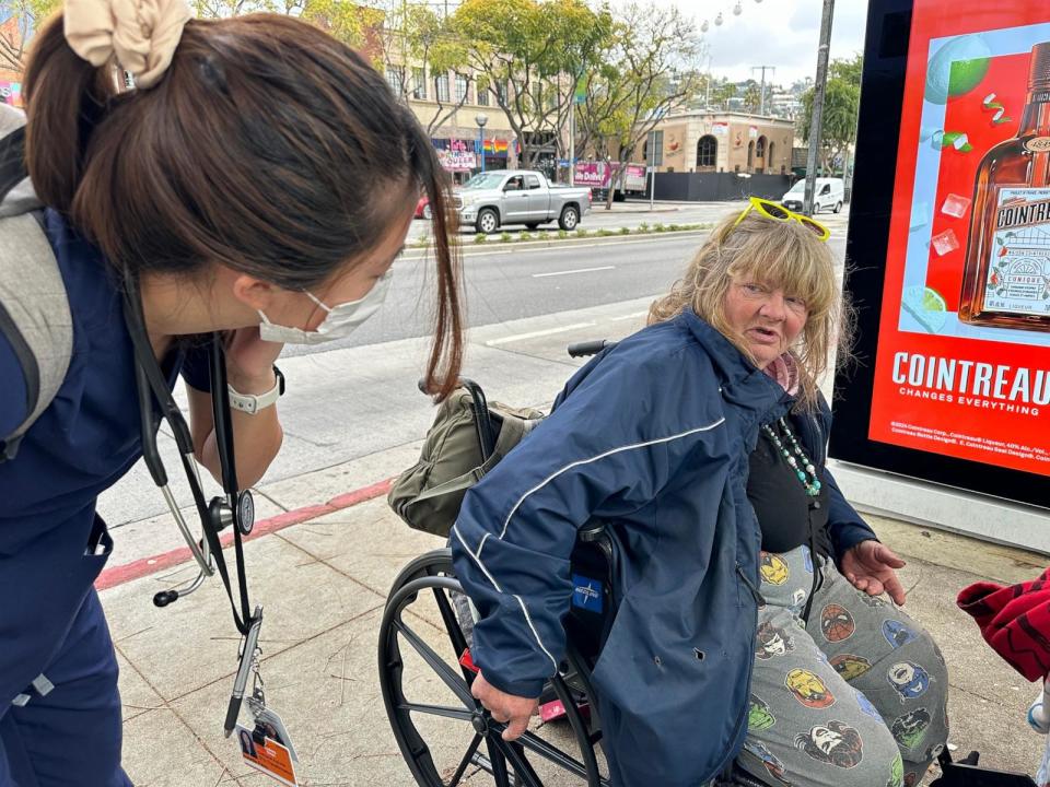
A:
[[[237,488],[237,472],[234,462],[233,423],[230,418],[230,393],[226,385],[226,360],[223,339],[212,333],[209,342],[209,373],[211,378],[212,416],[214,419],[215,447],[222,475],[223,494],[206,501],[200,474],[194,458],[194,442],[189,425],[175,403],[164,373],[156,361],[153,348],[145,331],[142,314],[142,299],[133,278],[128,277],[125,287],[124,317],[135,349],[135,383],[139,400],[139,419],[142,433],[142,458],[153,482],[160,488],[164,501],[175,518],[179,532],[197,562],[196,578],[179,587],[161,590],[153,597],[156,607],[166,607],[175,600],[196,591],[206,578],[219,572],[230,598],[233,620],[244,637],[241,650],[241,665],[234,681],[233,695],[226,713],[224,729],[226,736],[233,730],[241,709],[241,700],[249,671],[258,670],[256,649],[259,630],[262,624],[262,608],[252,610],[248,601],[248,585],[245,576],[243,537],[252,532],[255,525],[255,504],[248,490]],[[159,411],[154,409],[159,407]],[[186,473],[186,480],[194,495],[194,503],[200,517],[201,537],[194,536],[183,517],[167,483],[167,472],[156,445],[156,432],[161,420],[171,426],[172,435],[178,448]],[[219,533],[233,526],[234,549],[237,568],[238,604],[234,601],[230,583],[230,573],[222,553]]]

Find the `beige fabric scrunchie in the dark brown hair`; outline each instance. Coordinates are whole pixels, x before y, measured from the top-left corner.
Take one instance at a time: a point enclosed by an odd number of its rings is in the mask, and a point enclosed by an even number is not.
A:
[[[186,0],[66,0],[66,40],[95,68],[116,55],[137,87],[152,87],[189,19]]]

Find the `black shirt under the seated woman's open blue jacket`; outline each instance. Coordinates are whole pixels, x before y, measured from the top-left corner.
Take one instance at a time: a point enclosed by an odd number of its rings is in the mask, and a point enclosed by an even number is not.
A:
[[[791,443],[781,434],[780,425],[771,425],[781,443],[791,450]],[[788,425],[795,435],[798,434],[790,420]],[[817,553],[830,556],[827,485],[821,485],[816,497],[806,494],[795,470],[788,465],[766,430],[759,431],[758,445],[751,453],[749,465],[747,497],[762,530],[762,549],[766,552],[790,552],[809,543],[813,528]]]

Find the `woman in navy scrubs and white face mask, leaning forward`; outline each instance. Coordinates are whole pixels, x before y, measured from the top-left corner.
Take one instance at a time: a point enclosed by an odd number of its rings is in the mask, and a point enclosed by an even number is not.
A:
[[[130,784],[92,587],[112,545],[96,497],[141,454],[129,281],[170,384],[182,372],[189,385],[197,459],[217,477],[207,363],[187,338],[226,331],[232,396],[276,398],[281,342],[339,338],[374,313],[421,190],[435,224],[431,390],[447,395],[458,372],[446,178],[383,78],[298,20],[203,22],[184,0],[136,5],[70,0],[37,33],[23,83],[26,162],[73,349],[58,395],[0,463],[2,787]],[[118,89],[118,68],[133,89]],[[2,334],[0,381],[2,435],[26,414]],[[232,421],[246,488],[281,426],[275,407]]]

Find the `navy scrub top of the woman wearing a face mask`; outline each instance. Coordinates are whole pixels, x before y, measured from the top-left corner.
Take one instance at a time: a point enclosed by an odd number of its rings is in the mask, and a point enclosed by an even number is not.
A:
[[[46,212],[45,230],[69,297],[72,357],[55,400],[25,434],[18,456],[0,462],[0,556],[15,556],[38,539],[86,545],[98,494],[142,454],[119,285],[101,251],[58,213]],[[182,371],[191,386],[209,390],[205,348],[176,351],[165,368],[173,386]],[[0,334],[0,434],[16,428],[25,410],[22,369]]]

